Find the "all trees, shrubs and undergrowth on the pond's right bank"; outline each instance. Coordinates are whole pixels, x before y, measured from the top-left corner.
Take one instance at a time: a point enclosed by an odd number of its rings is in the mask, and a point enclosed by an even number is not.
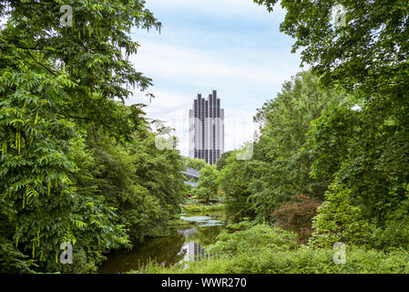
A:
[[[278,1],[254,2],[272,11]],[[258,110],[251,159],[237,150],[220,162],[236,224],[208,246],[210,260],[145,272],[409,272],[409,4],[281,6],[281,31],[311,68]]]

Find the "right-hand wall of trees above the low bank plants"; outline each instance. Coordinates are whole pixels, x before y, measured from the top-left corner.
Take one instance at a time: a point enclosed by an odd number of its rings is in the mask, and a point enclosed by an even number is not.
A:
[[[269,11],[277,3],[254,2]],[[345,25],[332,24],[337,5],[345,8]],[[313,230],[312,246],[406,247],[409,5],[281,6],[288,11],[281,31],[296,38],[293,50],[302,49],[312,70],[285,83],[259,110],[253,158],[231,155],[221,168],[227,211],[299,235]],[[299,195],[323,201],[316,217],[318,204],[297,204]],[[282,212],[306,217],[282,222]]]

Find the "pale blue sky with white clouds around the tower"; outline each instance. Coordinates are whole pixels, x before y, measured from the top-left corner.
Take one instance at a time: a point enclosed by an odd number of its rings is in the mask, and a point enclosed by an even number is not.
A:
[[[162,23],[156,30],[136,29],[141,47],[131,57],[135,68],[153,79],[148,118],[176,129],[179,150],[189,154],[189,109],[198,93],[218,90],[225,110],[225,151],[251,141],[252,117],[281,84],[302,69],[291,54],[293,39],[279,31],[284,11],[273,13],[251,0],[147,0]],[[128,104],[149,103],[136,92]]]

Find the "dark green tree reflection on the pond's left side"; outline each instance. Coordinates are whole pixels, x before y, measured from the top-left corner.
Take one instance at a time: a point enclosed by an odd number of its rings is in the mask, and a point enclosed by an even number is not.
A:
[[[106,262],[102,264],[99,273],[122,273],[131,269],[138,269],[146,265],[149,259],[157,263],[176,264],[183,259],[180,254],[185,236],[174,232],[169,236],[150,238],[143,243],[135,243],[131,250],[116,251],[108,255]]]

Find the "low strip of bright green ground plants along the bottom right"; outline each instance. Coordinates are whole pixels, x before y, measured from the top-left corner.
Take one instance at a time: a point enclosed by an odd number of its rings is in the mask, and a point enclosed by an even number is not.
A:
[[[347,250],[346,263],[333,262],[332,249],[298,249],[277,252],[264,249],[258,253],[213,258],[189,262],[189,267],[164,267],[154,263],[143,270],[131,273],[143,274],[407,274],[409,254],[351,248]]]

